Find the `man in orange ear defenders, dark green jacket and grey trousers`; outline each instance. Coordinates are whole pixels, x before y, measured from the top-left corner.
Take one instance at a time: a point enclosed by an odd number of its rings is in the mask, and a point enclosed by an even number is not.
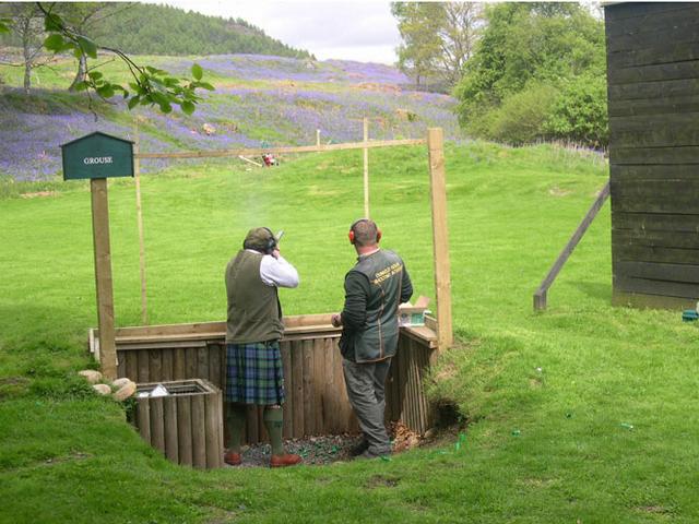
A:
[[[398,306],[413,295],[405,264],[380,249],[381,231],[360,218],[350,227],[357,264],[345,275],[345,303],[332,323],[342,326],[340,350],[350,403],[364,433],[353,454],[367,458],[391,454],[383,424],[386,378],[398,348]]]

